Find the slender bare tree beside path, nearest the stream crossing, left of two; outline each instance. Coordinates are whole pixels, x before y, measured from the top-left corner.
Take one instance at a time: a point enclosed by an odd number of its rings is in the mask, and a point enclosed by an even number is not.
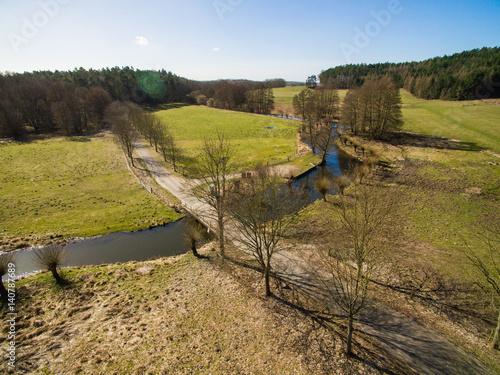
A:
[[[227,219],[227,198],[230,174],[236,170],[233,161],[235,149],[227,136],[216,132],[212,138],[205,138],[198,156],[197,174],[202,184],[194,192],[198,199],[215,210],[218,228],[219,249],[225,256],[225,223]]]

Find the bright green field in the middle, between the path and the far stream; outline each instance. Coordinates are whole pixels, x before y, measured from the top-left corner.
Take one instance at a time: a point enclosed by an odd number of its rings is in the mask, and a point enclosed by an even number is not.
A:
[[[199,153],[203,139],[217,131],[226,134],[233,142],[242,169],[257,161],[269,164],[287,161],[297,150],[298,123],[293,120],[204,106],[170,109],[156,114],[180,141],[187,157],[186,166],[194,163],[193,158]]]

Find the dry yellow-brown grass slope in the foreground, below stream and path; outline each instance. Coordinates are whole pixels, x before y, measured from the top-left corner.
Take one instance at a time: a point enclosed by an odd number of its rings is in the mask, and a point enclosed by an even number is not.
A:
[[[250,289],[262,288],[260,274],[237,270],[233,277],[213,260],[187,255],[66,269],[64,288],[48,273],[18,281],[17,369],[321,375],[376,374],[371,366],[380,366],[408,373],[361,336],[355,350],[368,364],[345,358],[343,340],[328,324],[257,297]],[[249,277],[244,284],[237,281],[242,274]],[[7,373],[6,364],[0,371]]]

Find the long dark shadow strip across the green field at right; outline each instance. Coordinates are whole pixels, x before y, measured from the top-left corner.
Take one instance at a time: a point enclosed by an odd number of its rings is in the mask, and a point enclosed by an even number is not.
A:
[[[483,151],[484,148],[475,142],[461,142],[434,135],[411,132],[394,132],[382,139],[393,146],[412,146],[421,148],[436,148],[440,150]]]

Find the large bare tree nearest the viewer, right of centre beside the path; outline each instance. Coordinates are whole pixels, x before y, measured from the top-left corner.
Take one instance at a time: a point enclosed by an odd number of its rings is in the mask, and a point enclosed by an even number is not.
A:
[[[320,288],[346,314],[346,353],[352,354],[354,318],[365,306],[370,280],[382,262],[390,202],[373,189],[356,185],[341,196],[334,228],[338,240],[316,260]]]

